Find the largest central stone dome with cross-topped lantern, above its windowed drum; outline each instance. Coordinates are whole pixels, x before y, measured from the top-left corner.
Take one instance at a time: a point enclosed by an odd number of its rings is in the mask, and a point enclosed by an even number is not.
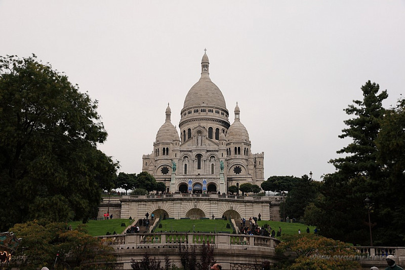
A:
[[[228,111],[221,90],[210,79],[209,65],[208,56],[204,54],[201,60],[201,77],[188,91],[182,111],[199,106],[210,106]]]

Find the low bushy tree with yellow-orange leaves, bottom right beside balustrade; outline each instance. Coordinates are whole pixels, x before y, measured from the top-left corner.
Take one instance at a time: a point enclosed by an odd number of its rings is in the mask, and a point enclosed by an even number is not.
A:
[[[358,261],[351,259],[357,253],[349,244],[318,235],[285,235],[275,250],[278,254],[289,251],[296,256],[292,263],[287,261],[288,265],[276,269],[361,269]]]

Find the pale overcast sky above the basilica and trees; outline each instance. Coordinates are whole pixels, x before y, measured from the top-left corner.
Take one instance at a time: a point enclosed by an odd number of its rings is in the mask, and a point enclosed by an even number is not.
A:
[[[405,85],[405,1],[0,0],[0,25],[0,55],[34,53],[99,101],[100,149],[127,173],[141,171],[168,103],[178,126],[205,48],[265,178],[333,172],[361,85],[387,89],[387,108]]]

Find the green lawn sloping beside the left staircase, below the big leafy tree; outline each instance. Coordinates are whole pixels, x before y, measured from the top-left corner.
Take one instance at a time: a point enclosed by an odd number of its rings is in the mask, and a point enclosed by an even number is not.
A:
[[[132,224],[134,220],[129,220],[127,218],[113,218],[107,220],[89,220],[89,223],[86,223],[87,230],[91,236],[105,235],[107,232],[112,234],[114,231],[117,234],[123,233],[123,231]],[[121,227],[121,223],[125,223],[126,227]],[[78,224],[82,224],[82,221],[72,221],[68,223],[75,229]]]

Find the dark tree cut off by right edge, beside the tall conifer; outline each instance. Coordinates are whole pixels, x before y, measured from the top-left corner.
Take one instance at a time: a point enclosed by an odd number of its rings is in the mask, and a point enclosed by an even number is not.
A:
[[[369,194],[374,200],[372,218],[375,243],[403,246],[405,243],[405,99],[386,111],[378,138],[377,162],[384,168],[384,185]],[[392,198],[395,198],[394,200]],[[389,220],[389,221],[388,221]]]

